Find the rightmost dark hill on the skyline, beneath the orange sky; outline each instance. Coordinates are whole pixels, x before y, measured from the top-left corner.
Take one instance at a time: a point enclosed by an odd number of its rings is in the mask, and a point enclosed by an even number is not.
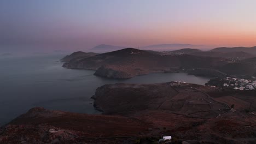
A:
[[[256,55],[256,46],[254,47],[218,47],[215,49],[212,49],[211,51],[217,51],[217,52],[247,52],[251,53],[253,55]]]

